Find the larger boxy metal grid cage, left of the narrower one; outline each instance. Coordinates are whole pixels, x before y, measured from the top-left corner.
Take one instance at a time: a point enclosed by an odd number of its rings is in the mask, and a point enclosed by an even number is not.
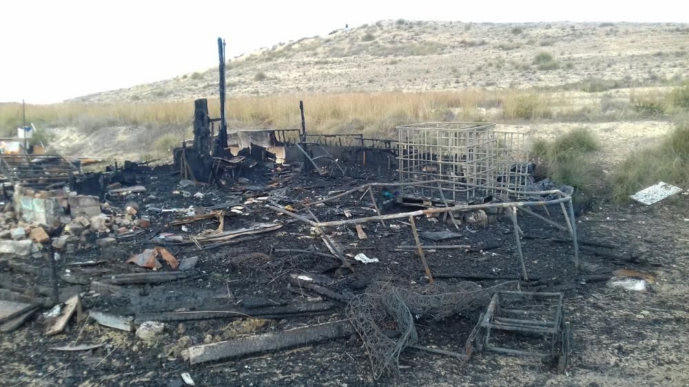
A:
[[[488,195],[496,186],[495,124],[426,122],[398,126],[400,182],[434,179],[474,184],[443,183],[406,186],[402,195],[432,201],[466,203]],[[441,195],[442,190],[442,195]]]

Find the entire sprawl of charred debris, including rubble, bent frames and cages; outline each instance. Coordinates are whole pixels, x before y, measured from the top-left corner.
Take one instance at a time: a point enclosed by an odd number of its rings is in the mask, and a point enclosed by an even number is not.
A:
[[[560,290],[610,276],[579,272],[579,245],[596,243],[577,238],[567,188],[531,188],[523,135],[455,123],[402,126],[397,141],[238,131],[216,152],[204,104],[174,164],[14,187],[0,214],[4,335],[40,329],[56,351],[105,356],[114,348],[95,325],[189,369],[349,340],[375,379],[404,373],[407,351],[565,370]],[[429,346],[420,321],[452,321],[462,342]],[[250,328],[185,334],[200,322]]]

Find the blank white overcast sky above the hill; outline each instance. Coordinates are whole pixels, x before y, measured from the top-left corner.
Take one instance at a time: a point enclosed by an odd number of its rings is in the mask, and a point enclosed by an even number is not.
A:
[[[0,10],[0,102],[28,103],[209,69],[218,36],[232,58],[386,19],[689,22],[686,0],[6,0]]]

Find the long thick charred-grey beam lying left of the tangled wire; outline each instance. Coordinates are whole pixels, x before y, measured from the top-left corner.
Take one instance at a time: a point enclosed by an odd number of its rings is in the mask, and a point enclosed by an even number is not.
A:
[[[277,333],[191,346],[187,350],[190,364],[279,351],[315,342],[344,338],[354,332],[347,321],[325,322]]]

